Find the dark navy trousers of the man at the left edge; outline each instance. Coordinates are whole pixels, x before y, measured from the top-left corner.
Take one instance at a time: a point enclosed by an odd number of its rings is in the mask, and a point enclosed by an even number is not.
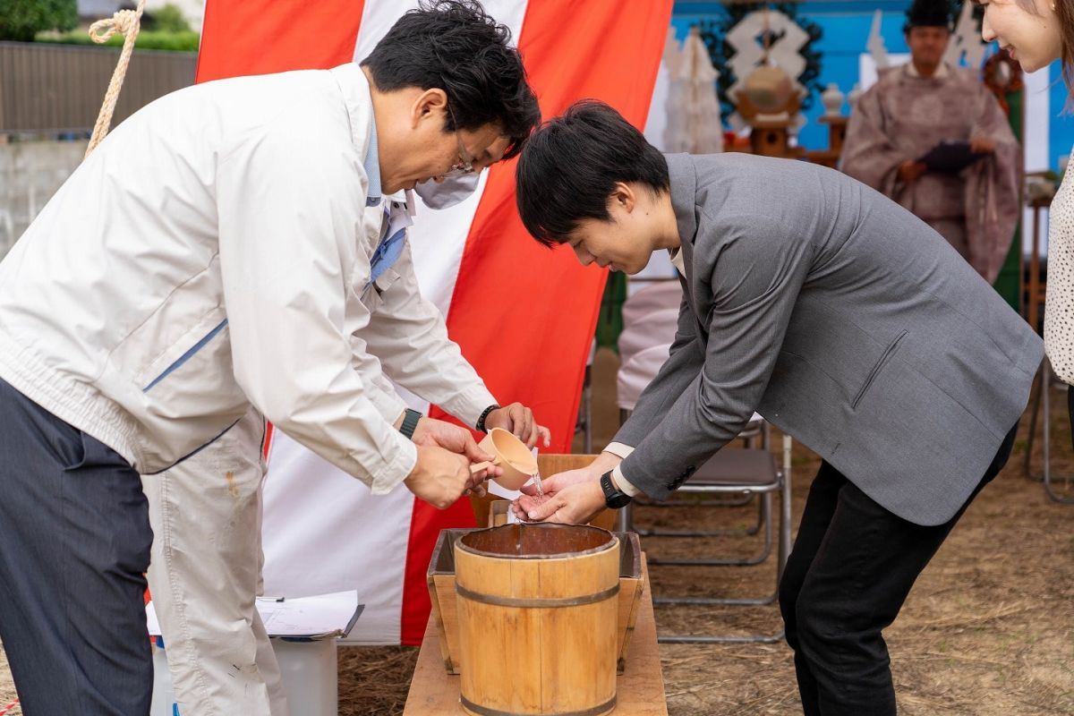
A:
[[[153,531],[139,473],[0,381],[0,641],[26,716],[144,716]]]

